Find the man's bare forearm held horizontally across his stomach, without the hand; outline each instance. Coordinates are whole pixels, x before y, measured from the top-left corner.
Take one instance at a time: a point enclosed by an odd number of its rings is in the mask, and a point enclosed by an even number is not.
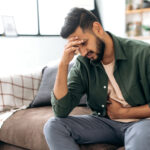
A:
[[[121,118],[125,119],[143,119],[150,117],[150,107],[148,104],[137,107],[125,108],[121,113]]]

